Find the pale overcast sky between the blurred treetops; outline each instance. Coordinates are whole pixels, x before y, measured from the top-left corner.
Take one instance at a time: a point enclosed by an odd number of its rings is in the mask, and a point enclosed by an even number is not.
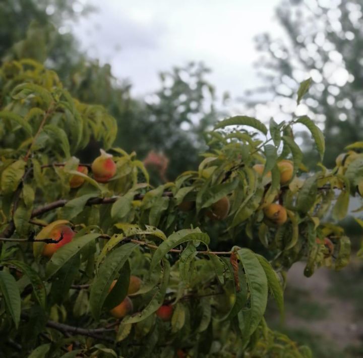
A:
[[[238,96],[259,84],[253,37],[283,36],[275,19],[279,0],[84,0],[98,7],[76,27],[92,57],[128,78],[134,95],[159,87],[157,73],[189,61],[212,69],[218,93]]]

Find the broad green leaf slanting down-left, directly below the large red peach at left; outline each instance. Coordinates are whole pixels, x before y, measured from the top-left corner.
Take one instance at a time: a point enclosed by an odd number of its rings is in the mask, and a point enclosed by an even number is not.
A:
[[[66,262],[77,255],[82,248],[100,235],[100,233],[89,233],[81,237],[76,236],[70,243],[59,248],[45,267],[46,277],[50,278],[53,276]]]

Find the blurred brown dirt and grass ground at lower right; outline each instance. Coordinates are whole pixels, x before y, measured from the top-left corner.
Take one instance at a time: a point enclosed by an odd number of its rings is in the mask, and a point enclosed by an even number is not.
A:
[[[318,358],[363,357],[363,263],[356,260],[340,272],[319,268],[309,278],[305,263],[287,275],[285,321],[278,312],[267,319]]]

